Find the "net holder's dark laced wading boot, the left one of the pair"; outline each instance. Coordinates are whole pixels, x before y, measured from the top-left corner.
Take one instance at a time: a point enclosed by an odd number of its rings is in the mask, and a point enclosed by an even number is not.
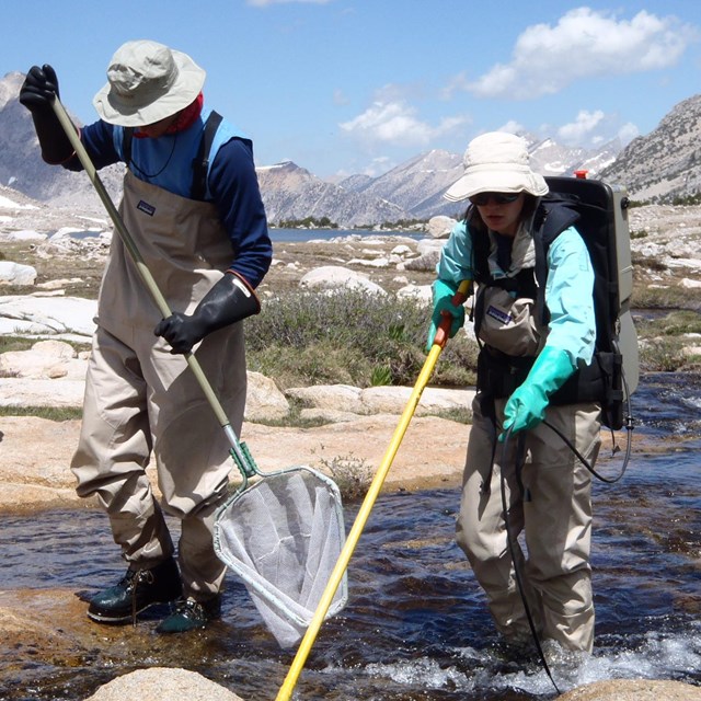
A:
[[[127,570],[119,583],[90,600],[88,617],[99,623],[128,623],[153,604],[174,601],[183,594],[172,558],[150,570]]]

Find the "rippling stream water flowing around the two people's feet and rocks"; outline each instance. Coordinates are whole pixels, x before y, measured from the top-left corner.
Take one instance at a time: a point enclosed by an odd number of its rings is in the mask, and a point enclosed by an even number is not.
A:
[[[701,686],[700,410],[701,377],[646,376],[641,383],[630,467],[616,484],[595,482],[596,650],[568,675],[555,674],[561,691],[611,678]],[[619,468],[601,460],[599,470],[614,475]],[[536,656],[508,657],[498,644],[455,544],[458,496],[446,490],[378,499],[350,561],[348,606],[322,627],[295,699],[554,698]],[[346,505],[348,524],[356,509]],[[105,517],[90,510],[4,518],[0,588],[80,593],[113,583],[122,564],[106,531]],[[11,683],[0,679],[0,698],[84,699],[127,671],[175,666],[248,701],[274,699],[295,653],[279,650],[233,576],[223,618],[206,632],[164,642],[156,621],[118,629],[118,645],[97,645],[70,666],[27,660]]]

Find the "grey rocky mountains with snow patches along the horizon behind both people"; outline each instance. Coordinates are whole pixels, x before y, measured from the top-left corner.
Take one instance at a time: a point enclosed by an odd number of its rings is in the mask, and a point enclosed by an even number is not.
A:
[[[31,114],[19,103],[23,80],[16,71],[0,79],[0,185],[51,206],[104,214],[87,177],[42,161]],[[650,135],[625,148],[618,140],[587,150],[520,136],[529,145],[532,169],[542,175],[586,170],[589,176],[624,184],[635,199],[654,203],[692,196],[701,188],[701,148],[696,147],[701,142],[701,95],[675,105]],[[261,165],[256,172],[272,225],[313,217],[344,228],[374,227],[457,217],[464,208],[443,198],[463,172],[462,154],[440,149],[418,153],[376,177],[355,174],[331,182],[291,161]],[[123,173],[122,164],[100,172],[115,200]]]

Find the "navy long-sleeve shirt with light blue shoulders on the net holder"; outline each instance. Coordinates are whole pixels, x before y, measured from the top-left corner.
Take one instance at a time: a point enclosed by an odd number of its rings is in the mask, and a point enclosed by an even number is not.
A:
[[[157,139],[134,138],[129,165],[133,173],[152,185],[189,197],[193,161],[210,112],[204,108],[191,127],[177,134]],[[125,160],[123,134],[123,127],[102,120],[81,129],[81,141],[96,169]],[[215,204],[231,241],[234,258],[229,269],[257,287],[271,266],[273,244],[255,174],[253,146],[229,122],[222,120],[211,154],[205,199]],[[77,157],[64,166],[82,170]]]

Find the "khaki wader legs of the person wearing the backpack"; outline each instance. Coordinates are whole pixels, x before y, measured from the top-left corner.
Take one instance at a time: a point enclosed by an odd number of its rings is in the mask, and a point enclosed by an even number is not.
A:
[[[548,426],[522,434],[525,464],[516,471],[518,439],[512,436],[506,463],[502,430],[505,400],[495,401],[496,424],[484,416],[480,394],[463,474],[458,544],[485,590],[497,629],[512,642],[530,639],[530,628],[518,589],[506,540],[502,476],[506,482],[512,537],[524,532],[528,559],[516,549],[529,609],[541,640],[590,652],[594,604],[589,551],[591,540],[591,481],[572,450]],[[549,406],[545,420],[562,432],[594,464],[600,445],[599,407],[595,404]]]

